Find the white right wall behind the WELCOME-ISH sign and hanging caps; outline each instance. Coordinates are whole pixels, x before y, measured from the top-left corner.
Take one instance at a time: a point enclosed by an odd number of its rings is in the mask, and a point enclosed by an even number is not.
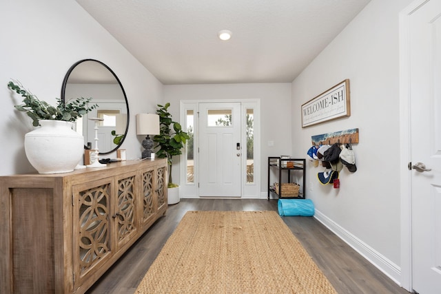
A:
[[[307,197],[324,221],[394,280],[400,280],[398,14],[411,0],[372,0],[292,83],[292,112],[350,80],[351,116],[302,129],[293,120],[293,154],[305,156],[311,136],[358,127],[358,171],[345,168],[340,189],[319,184],[309,165]],[[300,139],[300,140],[299,140]],[[300,143],[300,144],[299,144]]]

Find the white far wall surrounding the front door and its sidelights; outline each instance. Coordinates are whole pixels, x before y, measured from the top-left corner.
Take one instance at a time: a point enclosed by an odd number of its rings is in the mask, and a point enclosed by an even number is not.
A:
[[[170,113],[179,121],[181,100],[260,99],[260,190],[267,191],[267,157],[291,152],[291,84],[220,84],[165,85],[164,101],[170,102]],[[268,147],[268,141],[274,141]],[[178,162],[177,162],[178,165]],[[173,179],[179,179],[179,167],[173,167]],[[266,195],[266,194],[265,194]]]

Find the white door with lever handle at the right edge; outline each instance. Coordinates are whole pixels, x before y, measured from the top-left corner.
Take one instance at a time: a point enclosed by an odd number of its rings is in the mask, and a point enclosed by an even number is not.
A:
[[[441,1],[410,15],[413,289],[441,293]],[[418,163],[420,162],[420,163]],[[424,171],[425,169],[427,171]]]

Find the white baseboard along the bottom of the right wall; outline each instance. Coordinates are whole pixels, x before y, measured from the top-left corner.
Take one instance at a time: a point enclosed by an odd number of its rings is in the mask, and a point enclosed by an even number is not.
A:
[[[371,248],[365,242],[358,239],[355,235],[352,235],[342,227],[340,227],[336,222],[325,216],[323,213],[316,209],[314,218],[321,222],[325,227],[335,233],[340,239],[345,241],[349,246],[351,246],[355,251],[360,253],[362,257],[366,258],[371,264],[376,266],[384,275],[400,285],[401,280],[401,269],[400,266],[391,262],[383,255],[378,253],[378,251]]]

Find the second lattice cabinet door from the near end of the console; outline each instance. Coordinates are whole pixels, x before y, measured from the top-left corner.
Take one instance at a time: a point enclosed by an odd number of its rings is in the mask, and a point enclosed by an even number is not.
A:
[[[139,229],[139,224],[136,222],[138,218],[136,211],[139,206],[136,199],[136,194],[138,194],[136,176],[136,171],[132,171],[114,178],[116,211],[112,211],[112,218],[114,219],[116,249],[130,241]]]

